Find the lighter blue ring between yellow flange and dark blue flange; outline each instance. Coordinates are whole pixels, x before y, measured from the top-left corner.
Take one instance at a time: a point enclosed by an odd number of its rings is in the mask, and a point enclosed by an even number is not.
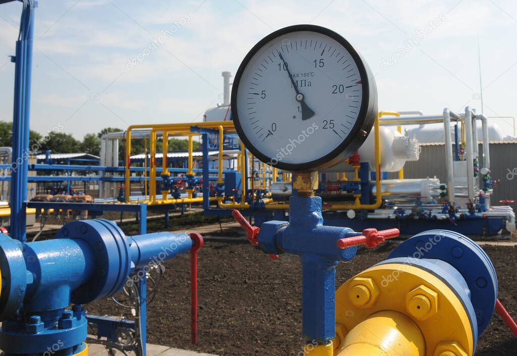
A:
[[[375,266],[386,265],[386,264],[401,264],[405,266],[418,267],[424,271],[427,271],[447,285],[450,290],[458,297],[460,303],[463,305],[465,312],[467,313],[470,327],[472,328],[472,336],[474,340],[474,350],[478,341],[478,322],[476,319],[476,311],[470,300],[470,289],[468,288],[465,278],[447,262],[439,259],[417,259],[413,257],[396,257],[389,258],[379,262]]]

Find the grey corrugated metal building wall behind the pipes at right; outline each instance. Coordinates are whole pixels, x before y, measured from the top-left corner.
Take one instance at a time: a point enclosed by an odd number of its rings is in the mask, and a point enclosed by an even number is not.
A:
[[[445,183],[444,145],[422,145],[420,149],[420,159],[416,162],[406,162],[404,165],[404,178],[436,176]],[[479,152],[482,156],[482,145],[479,145]],[[481,157],[480,166],[482,162]],[[491,143],[490,165],[492,178],[500,181],[494,189],[492,205],[500,205],[499,200],[517,200],[517,142]],[[398,174],[389,173],[388,178],[398,178]],[[517,210],[517,204],[513,203],[511,206],[514,211]]]

